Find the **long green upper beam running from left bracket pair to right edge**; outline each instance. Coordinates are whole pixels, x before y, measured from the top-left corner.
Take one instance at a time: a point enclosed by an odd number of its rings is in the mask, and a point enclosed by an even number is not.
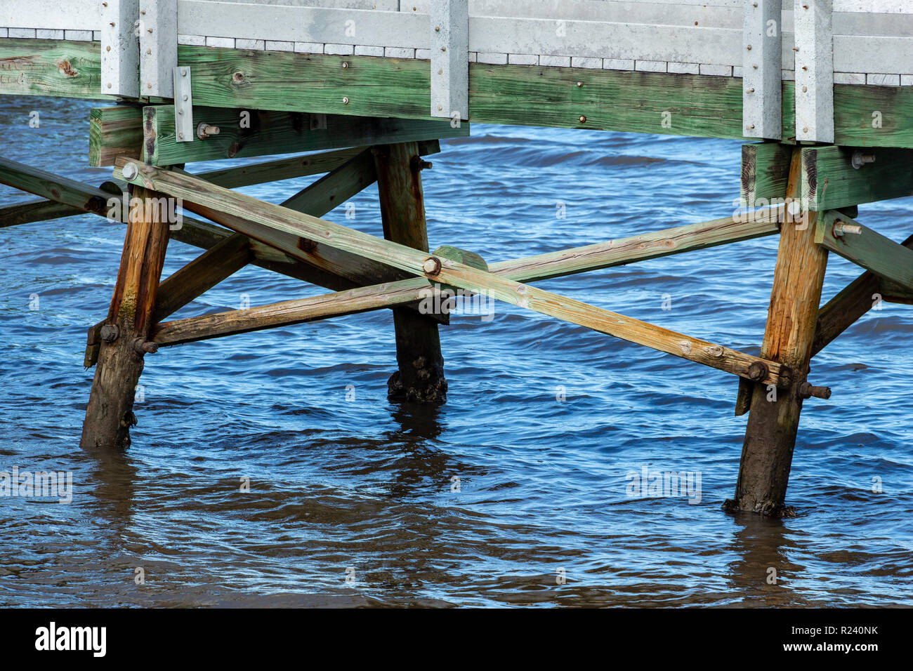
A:
[[[201,105],[428,118],[423,60],[179,46],[178,63]],[[795,138],[793,90],[782,83],[783,142]],[[469,64],[478,123],[740,140],[741,96],[740,78]],[[913,87],[835,85],[834,133],[837,144],[913,147]]]

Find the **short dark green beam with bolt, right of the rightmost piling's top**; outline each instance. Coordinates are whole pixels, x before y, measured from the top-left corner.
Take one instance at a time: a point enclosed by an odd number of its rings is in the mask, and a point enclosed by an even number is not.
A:
[[[853,167],[854,154],[873,163]],[[859,164],[857,162],[857,164]],[[820,212],[913,194],[913,151],[810,147],[802,151],[802,197]]]

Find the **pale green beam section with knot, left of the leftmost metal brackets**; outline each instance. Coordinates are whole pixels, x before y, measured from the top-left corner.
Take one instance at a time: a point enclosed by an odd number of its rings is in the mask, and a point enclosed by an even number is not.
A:
[[[0,94],[117,100],[101,92],[100,42],[0,39]]]

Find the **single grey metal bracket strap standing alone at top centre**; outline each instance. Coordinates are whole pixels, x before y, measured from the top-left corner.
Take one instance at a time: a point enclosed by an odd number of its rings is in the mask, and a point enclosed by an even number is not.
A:
[[[469,2],[431,2],[431,116],[469,119]]]

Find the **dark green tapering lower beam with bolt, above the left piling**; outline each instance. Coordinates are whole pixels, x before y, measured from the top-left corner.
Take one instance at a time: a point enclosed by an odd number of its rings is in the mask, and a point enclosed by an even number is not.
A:
[[[150,165],[173,165],[214,159],[275,153],[311,152],[384,142],[416,142],[465,137],[468,124],[453,128],[449,121],[327,115],[325,127],[312,128],[310,113],[194,107],[194,124],[217,126],[205,140],[177,142],[173,105],[143,109],[143,160]],[[321,120],[322,121],[322,120]]]

